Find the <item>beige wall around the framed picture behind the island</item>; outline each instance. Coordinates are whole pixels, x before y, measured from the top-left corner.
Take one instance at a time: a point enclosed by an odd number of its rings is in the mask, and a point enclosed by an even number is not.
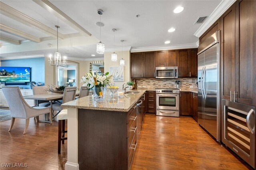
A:
[[[111,54],[113,52],[104,53],[104,72],[109,71],[109,67],[111,66],[120,66],[120,59],[124,59],[124,81],[123,82],[115,82],[116,86],[122,87],[124,83],[130,81],[130,51],[116,51],[117,61],[111,61]]]

